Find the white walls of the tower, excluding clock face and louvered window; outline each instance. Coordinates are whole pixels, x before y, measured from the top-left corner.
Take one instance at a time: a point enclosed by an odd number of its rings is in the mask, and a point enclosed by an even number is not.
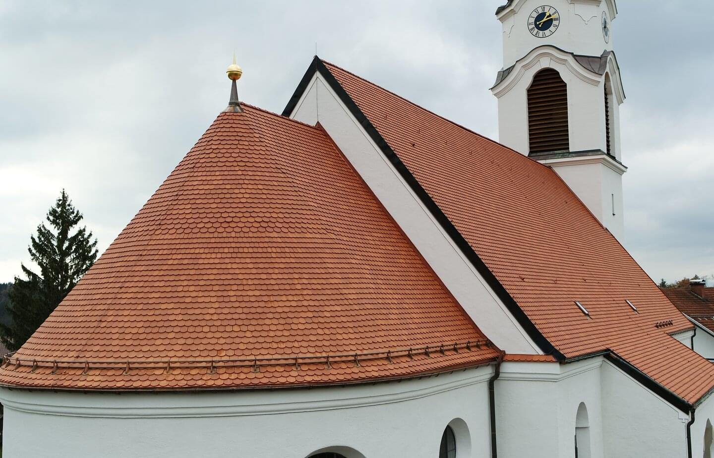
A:
[[[548,5],[558,11],[558,28],[536,38],[528,23],[532,11]],[[608,41],[603,36],[608,18]],[[616,14],[612,0],[513,0],[498,14],[503,23],[504,68],[491,89],[498,98],[499,141],[528,156],[528,88],[545,69],[558,71],[567,86],[568,151],[538,153],[533,159],[550,166],[583,200],[610,233],[624,238],[620,103],[625,93],[620,69],[611,53]],[[605,117],[608,93],[610,148]]]

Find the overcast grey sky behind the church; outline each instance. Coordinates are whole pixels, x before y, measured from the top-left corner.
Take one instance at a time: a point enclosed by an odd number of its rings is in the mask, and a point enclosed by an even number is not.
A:
[[[281,112],[318,54],[497,139],[500,0],[0,0],[0,281],[62,188],[104,250],[228,101]],[[656,4],[656,7],[655,7]],[[714,274],[714,2],[620,0],[625,246]]]

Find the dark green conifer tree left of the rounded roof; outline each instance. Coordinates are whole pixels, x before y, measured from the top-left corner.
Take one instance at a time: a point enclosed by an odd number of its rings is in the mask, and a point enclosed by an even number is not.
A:
[[[9,325],[0,324],[4,344],[17,350],[46,320],[96,260],[96,238],[86,227],[72,231],[82,220],[67,193],[57,198],[46,215],[49,227],[37,226],[28,248],[39,267],[35,273],[21,265],[26,279],[15,277],[9,292]]]

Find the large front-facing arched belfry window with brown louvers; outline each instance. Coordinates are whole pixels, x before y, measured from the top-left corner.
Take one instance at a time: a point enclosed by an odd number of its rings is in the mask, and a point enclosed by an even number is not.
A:
[[[528,88],[528,138],[531,154],[568,151],[568,86],[558,71],[545,68]]]

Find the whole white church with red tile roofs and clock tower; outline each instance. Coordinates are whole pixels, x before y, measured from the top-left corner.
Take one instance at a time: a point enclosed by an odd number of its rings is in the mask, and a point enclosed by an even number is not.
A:
[[[317,56],[271,113],[234,62],[4,358],[4,457],[710,458],[714,364],[620,244],[617,15],[498,8],[499,142]]]

